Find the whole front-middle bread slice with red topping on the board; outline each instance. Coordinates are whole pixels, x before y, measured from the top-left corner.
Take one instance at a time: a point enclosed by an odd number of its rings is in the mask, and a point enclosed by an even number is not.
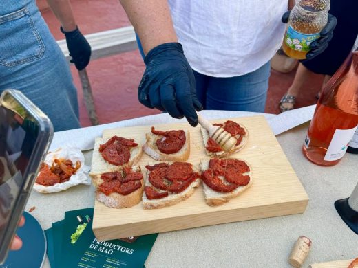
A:
[[[176,205],[191,197],[200,184],[198,168],[187,162],[160,162],[145,168],[145,209]]]

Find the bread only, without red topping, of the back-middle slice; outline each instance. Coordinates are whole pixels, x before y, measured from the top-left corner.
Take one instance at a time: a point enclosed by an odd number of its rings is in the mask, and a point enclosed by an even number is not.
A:
[[[160,150],[158,150],[158,146],[156,146],[156,140],[160,137],[162,137],[162,135],[156,135],[151,132],[145,134],[145,139],[147,142],[145,142],[145,144],[143,145],[143,150],[147,155],[157,161],[187,161],[190,155],[189,129],[185,131],[185,144],[176,153],[166,154],[160,152]]]

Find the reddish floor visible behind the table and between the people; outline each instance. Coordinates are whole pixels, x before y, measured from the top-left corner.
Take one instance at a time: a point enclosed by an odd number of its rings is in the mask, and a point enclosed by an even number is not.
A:
[[[129,25],[127,16],[118,0],[72,0],[71,3],[76,22],[83,34]],[[63,39],[63,34],[59,31],[60,24],[56,21],[54,14],[49,9],[43,10],[42,13],[56,40]],[[87,72],[101,124],[160,113],[155,109],[147,109],[138,102],[137,87],[143,70],[143,60],[138,51],[93,60],[89,63]],[[81,83],[73,66],[71,71],[78,89],[80,120],[83,126],[89,126]],[[279,113],[277,104],[291,85],[294,75],[295,71],[291,71],[289,74],[272,71],[266,113]],[[297,107],[315,103],[315,93],[320,87],[319,83],[319,80],[307,83],[305,91],[297,98]]]

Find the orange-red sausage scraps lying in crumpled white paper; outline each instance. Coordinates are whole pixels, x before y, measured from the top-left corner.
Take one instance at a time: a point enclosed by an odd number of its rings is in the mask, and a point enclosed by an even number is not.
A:
[[[72,163],[70,159],[54,159],[52,166],[43,163],[39,175],[36,178],[36,183],[43,186],[53,186],[56,183],[64,183],[69,181],[70,177],[76,174],[76,171],[81,168],[81,161]]]

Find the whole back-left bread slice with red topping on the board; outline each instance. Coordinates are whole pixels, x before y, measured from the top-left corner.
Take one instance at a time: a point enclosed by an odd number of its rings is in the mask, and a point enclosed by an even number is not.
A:
[[[113,136],[105,142],[101,137],[97,137],[94,139],[89,175],[96,180],[105,172],[115,172],[133,166],[141,155],[142,147],[134,139]]]

